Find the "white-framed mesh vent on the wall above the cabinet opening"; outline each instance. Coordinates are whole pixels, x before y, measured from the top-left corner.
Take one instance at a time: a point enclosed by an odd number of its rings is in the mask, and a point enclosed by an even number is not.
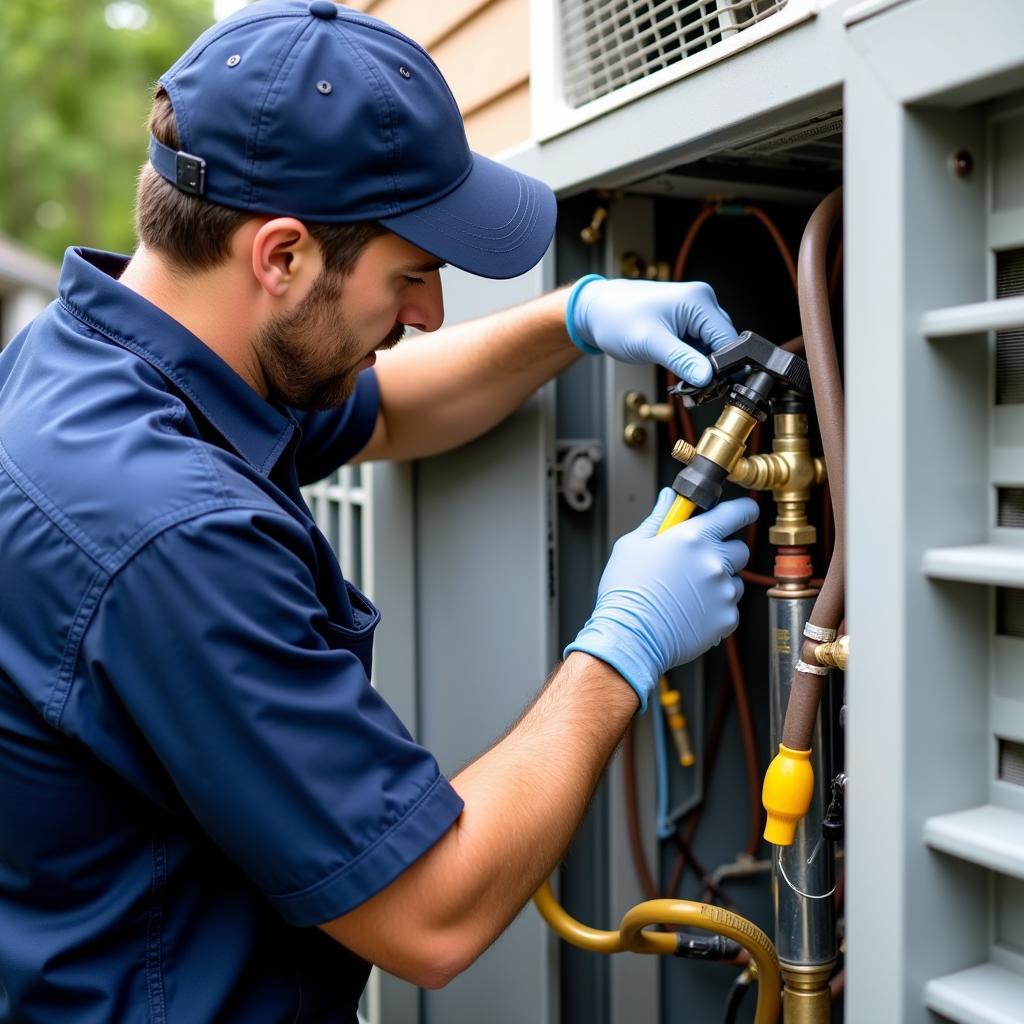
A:
[[[531,0],[543,141],[812,17],[829,0]]]

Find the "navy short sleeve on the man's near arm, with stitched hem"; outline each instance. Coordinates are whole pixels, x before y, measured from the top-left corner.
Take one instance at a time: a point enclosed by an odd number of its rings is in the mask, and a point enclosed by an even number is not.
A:
[[[462,801],[371,687],[361,630],[316,597],[311,541],[273,511],[208,513],[111,581],[83,638],[203,829],[293,925],[352,909]]]

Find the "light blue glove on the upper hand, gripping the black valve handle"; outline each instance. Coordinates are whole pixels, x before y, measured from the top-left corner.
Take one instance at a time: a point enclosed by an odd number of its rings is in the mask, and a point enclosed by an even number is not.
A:
[[[604,352],[622,362],[658,362],[690,384],[711,380],[711,364],[698,349],[716,351],[736,340],[728,313],[701,281],[605,281],[588,274],[569,293],[565,325],[585,352]]]

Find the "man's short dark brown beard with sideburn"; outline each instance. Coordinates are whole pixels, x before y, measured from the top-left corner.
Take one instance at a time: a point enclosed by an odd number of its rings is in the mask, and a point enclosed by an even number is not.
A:
[[[367,352],[341,311],[343,290],[337,273],[322,270],[291,312],[272,316],[259,329],[253,351],[269,398],[293,409],[322,410],[335,409],[351,395],[355,367]]]

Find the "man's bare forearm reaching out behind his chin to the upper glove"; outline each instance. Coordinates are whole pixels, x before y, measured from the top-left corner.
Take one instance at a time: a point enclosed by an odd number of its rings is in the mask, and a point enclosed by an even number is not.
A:
[[[381,418],[361,458],[444,452],[518,409],[580,355],[565,332],[566,296],[552,292],[381,352]]]

